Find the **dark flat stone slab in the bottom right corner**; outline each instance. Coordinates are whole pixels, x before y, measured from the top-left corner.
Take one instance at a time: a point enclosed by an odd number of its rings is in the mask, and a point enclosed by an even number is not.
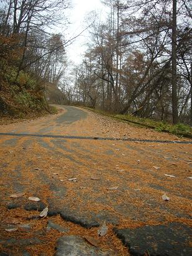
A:
[[[137,229],[114,229],[130,254],[143,256],[189,256],[191,229],[185,224],[144,226]]]

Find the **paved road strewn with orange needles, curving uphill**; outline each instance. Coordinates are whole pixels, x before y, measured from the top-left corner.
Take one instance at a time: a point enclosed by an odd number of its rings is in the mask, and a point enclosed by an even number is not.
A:
[[[143,139],[174,139],[167,134],[158,135],[151,130],[129,127],[127,124],[117,126],[115,121],[113,125],[113,121],[106,118],[105,122],[105,117],[100,120],[101,117],[77,107],[62,109],[64,112],[57,116],[3,126],[0,132],[125,137],[123,133],[127,129],[129,137],[138,135]],[[50,219],[53,218],[57,224],[61,223],[58,214],[63,220],[78,224],[77,227],[95,227],[95,230],[105,220],[110,227],[110,235],[113,236],[113,239],[108,237],[108,240],[104,241],[105,246],[108,244],[108,247],[113,249],[109,255],[125,253],[125,249],[119,249],[120,246],[115,251],[116,238],[112,235],[114,232],[125,245],[132,247],[131,252],[135,255],[142,255],[146,250],[149,250],[151,255],[156,255],[162,250],[168,250],[168,255],[181,255],[181,252],[182,255],[189,255],[191,180],[188,177],[191,176],[191,155],[190,144],[1,135],[0,197],[4,212],[2,219],[7,219],[7,214],[10,214],[7,208],[14,209],[11,210],[14,215],[19,211],[20,214],[26,215],[25,210],[42,210],[49,205],[49,215],[55,215]],[[77,182],[69,179],[76,179]],[[18,199],[9,198],[9,195],[18,192],[25,192],[26,195]],[[168,202],[161,198],[165,192],[170,197]],[[29,196],[39,197],[41,201],[31,203]],[[7,224],[2,225],[1,231],[8,239],[10,234],[4,232],[5,225]],[[32,225],[37,232],[37,223]],[[145,230],[144,233],[152,238],[148,238],[148,245],[145,244],[145,239],[140,240],[138,244],[137,235],[143,234],[142,227],[146,225],[151,229]],[[112,231],[113,227],[115,231]],[[40,236],[44,228],[41,223]],[[130,229],[133,228],[135,233],[132,237],[135,235],[135,240],[129,240],[132,232]],[[161,229],[164,230],[165,236],[175,234],[175,240],[170,240],[170,248],[166,248],[167,243],[157,241],[162,240]],[[154,238],[153,234],[160,235]],[[14,235],[22,237],[23,234],[18,235],[16,231]],[[51,239],[50,234],[46,233],[44,236],[49,244],[50,254],[54,250],[50,241],[59,235],[52,234]],[[0,240],[0,252],[1,246],[3,252],[6,250],[10,253],[17,249],[16,243],[12,242],[11,247],[6,247],[7,242],[3,241]],[[109,241],[113,241],[113,245]],[[42,241],[35,241],[32,245],[23,245],[23,248],[29,252],[30,247],[32,255],[40,255],[39,252],[46,246]]]

